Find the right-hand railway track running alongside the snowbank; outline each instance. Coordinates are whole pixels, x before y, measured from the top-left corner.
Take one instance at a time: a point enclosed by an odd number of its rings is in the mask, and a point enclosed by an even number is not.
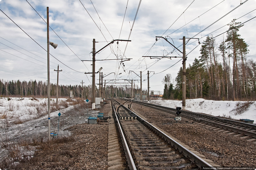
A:
[[[131,100],[127,100],[131,101]],[[137,104],[142,104],[147,107],[151,107],[160,111],[164,111],[171,114],[176,114],[176,109],[168,108],[164,106],[159,106],[156,104],[145,103],[140,101],[132,101]],[[238,137],[242,137],[244,139],[248,139],[250,141],[256,141],[256,125],[223,119],[215,116],[194,113],[190,111],[181,110],[182,113],[179,116],[182,116],[186,119],[196,121],[198,123],[209,125],[214,130],[218,130],[219,132],[230,133],[232,135],[237,135]]]

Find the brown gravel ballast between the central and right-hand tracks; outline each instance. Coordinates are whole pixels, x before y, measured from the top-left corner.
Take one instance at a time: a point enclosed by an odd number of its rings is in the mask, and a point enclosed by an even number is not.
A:
[[[139,104],[133,103],[132,109],[189,147],[205,155],[215,164],[256,166],[256,146],[253,142],[185,121],[180,121],[180,124],[177,124],[174,120],[175,115],[170,116],[165,112]]]

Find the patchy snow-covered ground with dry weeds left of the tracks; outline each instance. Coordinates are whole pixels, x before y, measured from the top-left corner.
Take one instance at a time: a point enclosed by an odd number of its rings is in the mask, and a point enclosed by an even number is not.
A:
[[[59,132],[59,136],[70,136],[70,132],[65,129],[87,123],[88,116],[97,117],[99,113],[97,110],[87,110],[89,104],[70,105],[66,100],[60,98],[59,109],[56,109],[56,98],[51,98],[51,133]],[[28,138],[48,139],[47,103],[47,98],[0,98],[0,146],[6,145],[9,141],[17,142]],[[100,108],[100,105],[96,108]],[[58,116],[58,113],[61,115]],[[0,159],[5,155],[7,150],[2,148]]]

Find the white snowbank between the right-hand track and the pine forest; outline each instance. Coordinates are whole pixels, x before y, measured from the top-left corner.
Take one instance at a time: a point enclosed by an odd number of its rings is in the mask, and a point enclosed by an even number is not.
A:
[[[202,98],[198,99],[187,99],[186,100],[186,110],[196,113],[205,113],[212,116],[223,116],[232,117],[232,119],[250,119],[254,120],[256,123],[256,102],[249,106],[249,108],[241,113],[235,115],[230,112],[235,108],[238,101],[215,101],[215,100],[205,100]],[[151,100],[151,103],[158,104],[165,107],[176,108],[182,107],[182,101],[179,100]]]

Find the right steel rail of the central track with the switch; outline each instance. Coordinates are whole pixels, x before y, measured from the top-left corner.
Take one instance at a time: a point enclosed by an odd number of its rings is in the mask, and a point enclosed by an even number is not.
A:
[[[122,105],[122,104],[121,104]],[[126,108],[125,106],[123,106],[124,108]],[[129,104],[130,107],[130,104]],[[194,154],[193,152],[191,152],[190,150],[188,150],[187,148],[185,148],[184,146],[180,145],[177,141],[175,141],[174,139],[172,139],[171,137],[167,136],[164,132],[162,132],[161,130],[159,130],[157,127],[153,126],[151,123],[147,122],[146,120],[144,120],[142,117],[138,116],[136,113],[134,113],[132,110],[130,110],[129,108],[126,108],[126,110],[132,112],[134,115],[137,116],[137,119],[140,120],[140,122],[143,122],[146,126],[150,127],[152,130],[154,130],[154,132],[156,132],[158,135],[160,135],[161,137],[163,137],[165,140],[167,140],[168,142],[170,142],[172,145],[175,146],[175,148],[177,148],[179,151],[182,151],[184,156],[188,156],[190,161],[195,161],[196,165],[200,168],[200,167],[210,167],[209,169],[216,169],[215,167],[213,167],[212,165],[210,165],[209,163],[207,163],[205,160],[203,160],[202,158],[200,158],[199,156],[197,156],[196,154]]]

